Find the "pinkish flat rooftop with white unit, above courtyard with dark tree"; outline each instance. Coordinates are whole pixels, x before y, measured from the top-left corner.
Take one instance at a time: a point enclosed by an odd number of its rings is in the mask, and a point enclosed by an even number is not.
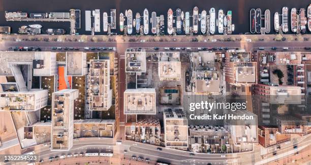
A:
[[[301,63],[300,52],[276,52],[275,56],[278,65],[297,65]]]

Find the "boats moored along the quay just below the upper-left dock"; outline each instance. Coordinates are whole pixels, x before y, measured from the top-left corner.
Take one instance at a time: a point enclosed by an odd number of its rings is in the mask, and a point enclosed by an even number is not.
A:
[[[42,25],[40,24],[32,24],[32,25],[24,25],[18,29],[19,34],[41,34]],[[61,28],[48,28],[46,29],[46,34],[48,35],[65,35],[66,30]]]

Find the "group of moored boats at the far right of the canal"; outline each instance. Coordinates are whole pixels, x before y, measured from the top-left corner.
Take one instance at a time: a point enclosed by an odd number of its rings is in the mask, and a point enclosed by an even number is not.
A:
[[[267,10],[266,10],[267,11]],[[288,7],[282,8],[282,14],[279,14],[278,12],[274,13],[274,31],[276,32],[288,32],[289,31],[289,9]],[[282,16],[282,22],[279,20],[279,16]],[[269,12],[270,16],[270,12]],[[260,33],[262,24],[262,16],[261,16],[261,9],[251,9],[250,11],[250,30],[252,34]],[[266,22],[266,13],[265,13],[265,22]],[[267,20],[267,22],[270,22],[270,18]],[[281,23],[281,25],[280,25]],[[311,31],[311,4],[307,7],[307,14],[305,13],[305,9],[301,8],[297,10],[296,8],[291,9],[290,14],[290,26],[291,31],[300,34],[305,33],[306,29],[308,28],[309,31]]]

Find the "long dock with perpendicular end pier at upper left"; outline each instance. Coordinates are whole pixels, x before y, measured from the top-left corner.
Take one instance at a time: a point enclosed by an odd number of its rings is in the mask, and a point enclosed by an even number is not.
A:
[[[32,21],[32,22],[70,22],[70,34],[76,33],[76,12],[71,9],[69,13],[66,12],[51,12],[48,18],[29,18],[27,13],[6,12],[7,21]],[[78,16],[80,17],[80,16]]]

